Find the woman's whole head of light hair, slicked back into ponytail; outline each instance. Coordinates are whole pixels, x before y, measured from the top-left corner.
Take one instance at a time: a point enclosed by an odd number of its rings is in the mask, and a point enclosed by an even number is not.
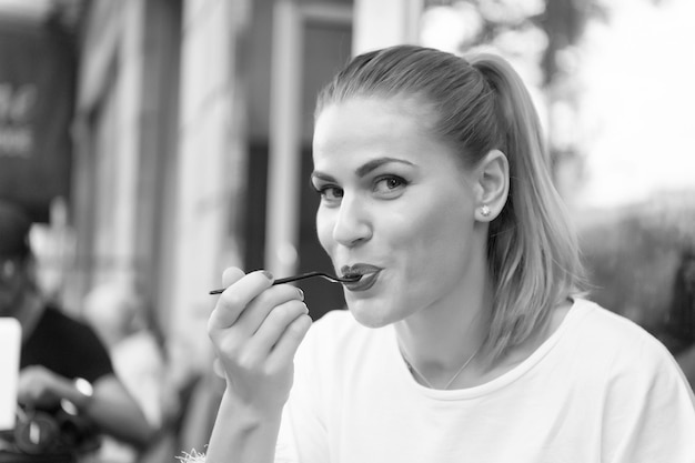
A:
[[[541,123],[518,74],[501,57],[469,60],[397,46],[354,58],[321,91],[315,115],[352,98],[416,98],[431,109],[435,135],[475,165],[493,149],[510,163],[510,193],[491,222],[493,280],[488,360],[523,343],[576,291],[584,271],[574,230],[555,190]]]

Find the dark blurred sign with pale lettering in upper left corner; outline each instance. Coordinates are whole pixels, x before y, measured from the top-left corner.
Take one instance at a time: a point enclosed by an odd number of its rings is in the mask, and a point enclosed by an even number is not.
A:
[[[0,199],[38,221],[70,193],[74,74],[64,32],[0,21]]]

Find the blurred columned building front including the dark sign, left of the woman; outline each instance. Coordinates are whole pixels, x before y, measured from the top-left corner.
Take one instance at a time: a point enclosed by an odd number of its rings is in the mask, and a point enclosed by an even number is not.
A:
[[[415,42],[422,4],[4,2],[0,195],[44,224],[50,295],[79,313],[134,280],[199,359],[223,268],[328,270],[305,180],[315,94],[353,52]],[[306,284],[315,318],[342,306]]]

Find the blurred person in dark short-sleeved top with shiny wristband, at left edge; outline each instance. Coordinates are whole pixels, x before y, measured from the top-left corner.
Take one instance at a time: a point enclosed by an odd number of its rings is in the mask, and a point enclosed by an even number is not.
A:
[[[14,318],[22,328],[18,429],[27,431],[3,442],[0,461],[8,454],[11,460],[11,453],[22,461],[74,461],[84,450],[78,444],[93,450],[102,434],[145,445],[152,429],[115,376],[105,346],[37,289],[30,229],[21,208],[0,202],[0,316]],[[80,441],[77,431],[89,439]]]

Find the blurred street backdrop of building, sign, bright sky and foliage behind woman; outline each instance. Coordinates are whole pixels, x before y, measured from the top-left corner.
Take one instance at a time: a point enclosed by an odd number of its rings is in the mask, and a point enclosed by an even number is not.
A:
[[[308,181],[318,90],[374,48],[493,50],[532,90],[592,298],[687,373],[693,18],[692,0],[2,0],[0,198],[32,212],[41,288],[66,311],[138,282],[181,410],[139,459],[171,462],[214,419],[222,269],[330,269]],[[315,319],[343,304],[338,285],[303,288]]]

